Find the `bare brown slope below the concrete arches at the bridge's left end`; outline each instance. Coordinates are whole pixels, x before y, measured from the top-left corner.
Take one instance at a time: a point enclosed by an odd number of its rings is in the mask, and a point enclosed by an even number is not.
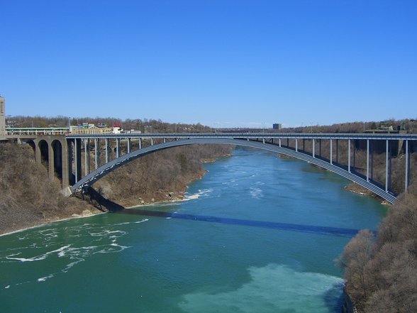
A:
[[[60,181],[35,164],[30,145],[0,143],[0,234],[96,211],[60,191]]]

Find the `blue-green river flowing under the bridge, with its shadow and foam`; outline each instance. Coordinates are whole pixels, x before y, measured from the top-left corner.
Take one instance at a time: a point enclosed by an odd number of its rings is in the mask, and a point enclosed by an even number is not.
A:
[[[206,169],[184,202],[0,237],[0,312],[339,312],[333,259],[384,206],[259,150]]]

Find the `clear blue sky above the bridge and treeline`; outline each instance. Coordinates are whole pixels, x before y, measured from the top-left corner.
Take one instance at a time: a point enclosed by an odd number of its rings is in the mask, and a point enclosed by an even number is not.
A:
[[[416,118],[417,1],[0,0],[7,115]]]

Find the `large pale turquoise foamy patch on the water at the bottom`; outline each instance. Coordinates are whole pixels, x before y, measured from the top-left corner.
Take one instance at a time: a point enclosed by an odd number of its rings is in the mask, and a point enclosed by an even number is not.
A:
[[[269,264],[248,271],[250,282],[238,289],[184,295],[179,307],[190,313],[327,313],[332,309],[328,293],[336,302],[343,286],[341,278],[297,272],[286,265]]]

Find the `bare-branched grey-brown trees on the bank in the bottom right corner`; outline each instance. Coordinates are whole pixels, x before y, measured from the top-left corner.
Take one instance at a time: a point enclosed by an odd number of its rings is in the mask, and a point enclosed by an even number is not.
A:
[[[359,312],[417,312],[417,184],[389,209],[377,234],[365,229],[338,264]]]

